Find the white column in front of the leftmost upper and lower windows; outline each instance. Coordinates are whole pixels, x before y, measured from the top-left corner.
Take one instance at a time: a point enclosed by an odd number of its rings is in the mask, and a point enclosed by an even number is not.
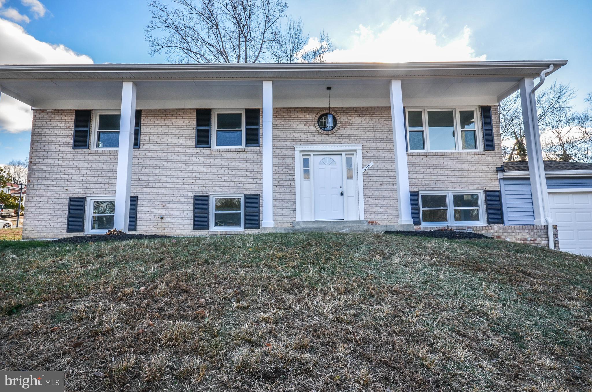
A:
[[[131,158],[134,151],[134,123],[136,121],[136,85],[123,82],[121,91],[121,122],[117,155],[117,184],[115,185],[114,228],[127,232],[130,217]]]

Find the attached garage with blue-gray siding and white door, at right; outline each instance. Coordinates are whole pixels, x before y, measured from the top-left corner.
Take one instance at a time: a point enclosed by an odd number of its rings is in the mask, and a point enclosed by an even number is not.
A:
[[[545,160],[544,164],[561,250],[592,256],[592,163]],[[533,224],[528,162],[504,162],[498,175],[506,224]]]

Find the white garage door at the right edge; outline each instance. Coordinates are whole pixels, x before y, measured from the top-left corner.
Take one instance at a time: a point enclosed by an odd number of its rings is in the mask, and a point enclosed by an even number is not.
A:
[[[559,249],[592,256],[592,192],[549,193]]]

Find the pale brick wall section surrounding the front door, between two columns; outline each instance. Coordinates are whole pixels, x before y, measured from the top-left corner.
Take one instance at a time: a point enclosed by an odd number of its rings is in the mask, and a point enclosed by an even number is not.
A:
[[[366,220],[396,224],[397,189],[389,107],[332,108],[340,124],[333,134],[321,134],[316,114],[321,108],[274,109],[274,221],[279,227],[296,220],[294,144],[362,144]]]

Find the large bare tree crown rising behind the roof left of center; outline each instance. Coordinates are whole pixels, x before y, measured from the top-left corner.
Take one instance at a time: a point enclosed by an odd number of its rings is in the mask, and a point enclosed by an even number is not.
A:
[[[268,60],[273,33],[285,16],[281,0],[158,0],[149,3],[150,54],[175,63],[253,63]]]

